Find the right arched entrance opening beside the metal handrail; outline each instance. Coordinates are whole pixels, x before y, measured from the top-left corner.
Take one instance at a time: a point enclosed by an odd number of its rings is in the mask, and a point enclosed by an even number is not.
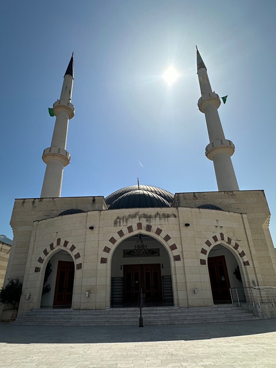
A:
[[[240,262],[223,244],[216,244],[208,254],[208,270],[214,304],[231,303],[231,291],[243,297]]]

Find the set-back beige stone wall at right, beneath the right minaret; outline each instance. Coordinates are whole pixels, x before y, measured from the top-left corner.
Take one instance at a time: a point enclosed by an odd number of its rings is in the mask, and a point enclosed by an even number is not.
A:
[[[268,229],[270,211],[262,190],[176,193],[175,206],[198,207],[202,204],[217,205],[223,210],[246,213],[248,242],[255,250],[262,276],[262,286],[276,286],[276,254]],[[248,222],[248,225],[247,225]],[[220,224],[219,224],[220,225]]]

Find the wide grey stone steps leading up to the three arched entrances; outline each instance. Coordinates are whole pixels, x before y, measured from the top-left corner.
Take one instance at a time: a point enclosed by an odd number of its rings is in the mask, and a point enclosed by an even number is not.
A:
[[[189,323],[234,322],[259,319],[242,307],[214,305],[202,308],[143,308],[144,325],[184,325]],[[72,309],[32,309],[17,318],[14,325],[36,326],[138,326],[138,308],[106,308],[104,311]]]

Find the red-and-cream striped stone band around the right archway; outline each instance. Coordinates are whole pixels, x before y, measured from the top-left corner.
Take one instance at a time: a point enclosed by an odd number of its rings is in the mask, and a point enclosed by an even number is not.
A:
[[[219,243],[223,241],[224,243],[227,243],[229,245],[231,245],[234,250],[237,251],[238,255],[240,256],[241,260],[243,261],[244,266],[250,266],[250,263],[247,259],[247,256],[245,254],[245,252],[241,249],[241,246],[234,241],[232,238],[230,238],[229,236],[224,235],[223,233],[219,233],[218,235],[214,235],[212,236],[212,238],[208,239],[205,241],[203,247],[201,248],[200,251],[200,264],[201,265],[206,265],[206,261],[207,261],[207,257],[206,254],[208,252],[208,249],[211,247],[211,245],[214,245],[215,243]]]

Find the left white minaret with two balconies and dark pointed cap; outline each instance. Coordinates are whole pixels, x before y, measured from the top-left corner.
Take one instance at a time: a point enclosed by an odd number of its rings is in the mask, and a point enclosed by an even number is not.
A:
[[[70,162],[71,156],[66,151],[68,122],[74,116],[75,107],[71,104],[72,87],[74,81],[73,54],[64,74],[60,99],[53,105],[56,116],[51,146],[45,148],[42,160],[46,163],[46,170],[40,198],[60,197],[63,167]]]

